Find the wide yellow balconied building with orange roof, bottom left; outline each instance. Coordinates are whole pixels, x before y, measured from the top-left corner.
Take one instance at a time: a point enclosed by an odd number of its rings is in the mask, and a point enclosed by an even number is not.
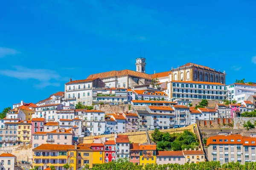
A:
[[[43,170],[54,166],[56,170],[62,169],[64,164],[70,164],[70,170],[76,170],[76,146],[64,144],[41,144],[33,150],[33,168]],[[73,163],[74,162],[74,163]]]

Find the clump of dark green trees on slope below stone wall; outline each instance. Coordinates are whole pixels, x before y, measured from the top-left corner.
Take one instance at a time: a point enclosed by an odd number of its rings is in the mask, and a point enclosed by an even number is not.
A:
[[[184,130],[183,133],[162,133],[158,129],[151,134],[153,142],[157,143],[157,150],[184,150],[198,147],[198,139],[194,133]]]

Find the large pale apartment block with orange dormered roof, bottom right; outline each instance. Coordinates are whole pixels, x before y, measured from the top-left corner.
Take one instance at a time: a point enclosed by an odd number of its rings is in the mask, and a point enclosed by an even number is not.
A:
[[[216,135],[207,139],[208,160],[220,161],[221,164],[239,161],[253,162],[256,160],[256,137],[236,135]]]

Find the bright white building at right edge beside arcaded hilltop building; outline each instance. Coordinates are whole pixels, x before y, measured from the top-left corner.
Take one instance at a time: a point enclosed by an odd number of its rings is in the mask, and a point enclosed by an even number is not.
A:
[[[227,85],[228,99],[236,100],[238,103],[247,100],[250,95],[256,94],[256,85],[233,83]]]

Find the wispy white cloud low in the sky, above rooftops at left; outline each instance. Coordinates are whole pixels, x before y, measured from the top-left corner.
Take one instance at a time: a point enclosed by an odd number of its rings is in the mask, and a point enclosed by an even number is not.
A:
[[[36,88],[47,86],[60,86],[60,81],[65,81],[67,77],[61,77],[56,71],[48,69],[31,69],[22,66],[12,66],[14,70],[0,70],[0,75],[17,79],[35,79],[39,81]]]

